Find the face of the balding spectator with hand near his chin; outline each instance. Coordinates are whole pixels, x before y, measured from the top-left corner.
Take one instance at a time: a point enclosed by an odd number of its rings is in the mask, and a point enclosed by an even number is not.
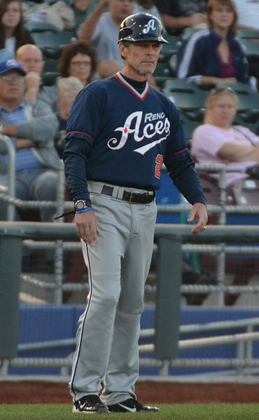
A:
[[[25,72],[36,72],[41,76],[44,62],[42,60],[41,51],[34,47],[22,47],[18,52],[17,60],[20,62]]]

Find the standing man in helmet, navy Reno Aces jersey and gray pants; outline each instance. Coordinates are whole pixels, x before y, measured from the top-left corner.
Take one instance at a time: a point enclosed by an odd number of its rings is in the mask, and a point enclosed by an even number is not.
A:
[[[146,80],[162,43],[167,41],[158,18],[125,18],[119,32],[125,67],[81,90],[68,119],[65,172],[90,283],[69,384],[73,412],[159,411],[137,400],[134,384],[163,162],[193,204],[192,233],[207,223],[178,111]]]

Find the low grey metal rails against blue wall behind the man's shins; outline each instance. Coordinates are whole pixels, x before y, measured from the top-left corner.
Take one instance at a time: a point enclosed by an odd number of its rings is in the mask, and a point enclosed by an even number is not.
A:
[[[237,345],[236,358],[174,358],[171,360],[158,360],[154,358],[140,358],[140,367],[153,368],[160,370],[162,377],[169,375],[170,368],[196,368],[196,369],[234,369],[237,374],[245,374],[245,369],[259,367],[259,358],[253,358],[253,341],[259,341],[259,332],[253,332],[253,328],[259,325],[259,318],[247,318],[239,320],[228,320],[214,323],[205,323],[200,325],[181,325],[180,334],[201,333],[201,332],[219,332],[221,330],[245,328],[245,333],[228,334],[217,337],[202,337],[199,339],[179,340],[179,349],[202,348],[218,345]],[[150,328],[141,330],[140,339],[151,338],[155,336],[155,329]],[[36,351],[50,348],[64,348],[76,346],[76,339],[62,339],[53,341],[41,341],[37,343],[20,344],[18,350],[20,353]],[[153,354],[154,344],[139,345],[140,354]],[[12,358],[8,360],[0,369],[0,374],[6,375],[8,367],[60,367],[60,375],[69,375],[69,369],[72,365],[72,358]],[[65,369],[64,369],[65,368]]]

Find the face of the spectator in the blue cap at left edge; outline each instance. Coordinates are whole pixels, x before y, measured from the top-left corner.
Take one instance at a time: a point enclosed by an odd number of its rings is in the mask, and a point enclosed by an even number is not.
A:
[[[22,101],[25,91],[25,77],[17,70],[0,75],[0,99],[8,102]]]

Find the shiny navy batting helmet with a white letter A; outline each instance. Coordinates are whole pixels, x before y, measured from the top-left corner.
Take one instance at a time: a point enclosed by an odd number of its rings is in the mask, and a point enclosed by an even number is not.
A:
[[[135,13],[120,24],[119,41],[157,41],[168,43],[163,37],[162,23],[150,13]]]

